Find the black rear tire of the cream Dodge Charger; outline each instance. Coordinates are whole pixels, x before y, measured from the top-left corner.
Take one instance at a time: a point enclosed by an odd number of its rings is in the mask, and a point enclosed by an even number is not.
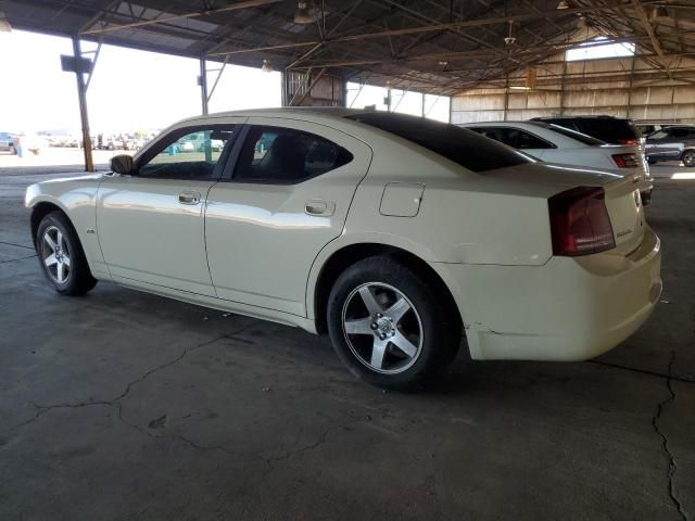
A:
[[[397,323],[391,320],[391,330],[384,330],[387,339],[381,338],[381,345],[386,344],[386,354],[381,357],[381,370],[370,365],[374,363],[375,346],[379,342],[379,336],[383,334],[381,326],[374,331],[376,322],[371,321],[383,320],[383,318],[372,318],[380,314],[369,313],[364,297],[357,297],[357,293],[365,288],[370,295],[376,296],[377,301],[382,298],[382,304],[379,305],[387,312],[396,300],[403,297],[412,306],[402,315],[403,318],[397,318]],[[382,291],[381,294],[379,294],[380,291]],[[391,302],[388,301],[389,293],[393,295]],[[328,297],[327,321],[333,348],[353,374],[374,385],[397,391],[422,386],[431,382],[454,360],[460,344],[460,320],[457,310],[452,309],[450,301],[451,297],[433,291],[432,284],[428,284],[412,268],[394,258],[375,256],[359,260],[338,277]],[[362,309],[357,309],[359,302],[363,302]],[[358,313],[359,310],[362,314]],[[351,313],[361,316],[350,318],[348,315]],[[356,323],[353,320],[371,322],[369,329],[372,330],[374,336],[370,336],[369,331],[346,333],[343,326],[344,318],[350,318],[349,321],[352,323]],[[388,338],[389,334],[399,336],[407,334],[404,325],[408,322],[416,325],[410,327],[419,328],[420,331],[419,335],[409,336],[417,338],[419,346],[417,354],[412,357],[399,350],[396,344]],[[362,342],[362,345],[357,345],[358,342]],[[410,343],[409,347],[414,345],[415,342]],[[371,354],[369,354],[370,351]],[[369,357],[370,360],[367,361]],[[388,369],[389,367],[395,367],[395,369]],[[387,372],[388,370],[391,372]]]

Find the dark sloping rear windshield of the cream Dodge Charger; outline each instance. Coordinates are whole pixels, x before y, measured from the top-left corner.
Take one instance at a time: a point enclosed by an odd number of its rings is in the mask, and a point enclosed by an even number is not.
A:
[[[412,141],[472,171],[533,163],[526,154],[454,125],[379,112],[345,117]]]

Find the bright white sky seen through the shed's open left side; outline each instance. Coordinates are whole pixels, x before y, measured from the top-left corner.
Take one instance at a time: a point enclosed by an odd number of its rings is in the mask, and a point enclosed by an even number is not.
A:
[[[96,49],[83,42],[83,53]],[[0,33],[3,78],[0,81],[0,130],[31,134],[80,128],[75,75],[61,69],[60,55],[73,53],[72,40],[13,30]],[[219,64],[210,62],[208,69]],[[103,46],[94,66],[87,104],[92,136],[99,132],[157,130],[201,112],[198,60]],[[208,73],[212,86],[216,73]],[[386,90],[349,84],[355,109],[386,110]],[[392,109],[421,114],[421,94],[392,91]],[[210,112],[280,106],[280,73],[227,65],[210,101]],[[426,97],[429,117],[448,120],[448,99]]]

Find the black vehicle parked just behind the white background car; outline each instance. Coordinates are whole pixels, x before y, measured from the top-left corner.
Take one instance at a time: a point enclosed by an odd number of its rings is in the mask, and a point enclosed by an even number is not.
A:
[[[614,116],[548,116],[534,117],[534,122],[545,122],[577,130],[610,144],[643,144],[642,132],[632,119]]]

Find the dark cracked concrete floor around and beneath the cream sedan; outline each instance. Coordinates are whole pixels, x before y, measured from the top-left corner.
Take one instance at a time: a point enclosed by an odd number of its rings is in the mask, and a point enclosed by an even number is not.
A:
[[[357,383],[324,339],[110,283],[49,290],[0,171],[0,519],[695,519],[695,182],[657,181],[662,303],[581,364]]]

